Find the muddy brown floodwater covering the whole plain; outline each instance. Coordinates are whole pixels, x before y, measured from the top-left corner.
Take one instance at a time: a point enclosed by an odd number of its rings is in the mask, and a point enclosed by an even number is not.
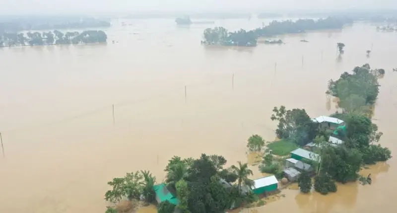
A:
[[[107,181],[139,169],[162,181],[173,155],[247,161],[250,135],[274,139],[274,106],[305,108],[312,117],[331,114],[328,80],[367,62],[386,70],[374,121],[384,133],[382,145],[397,152],[395,33],[356,24],[285,36],[281,46],[219,48],[200,45],[203,29],[212,25],[121,21],[107,30],[115,44],[0,49],[0,213],[102,213]],[[216,24],[236,30],[261,22]],[[310,42],[299,42],[303,38]],[[346,44],[340,62],[336,42]],[[330,196],[301,195],[295,187],[255,211],[395,212],[396,161],[364,170],[372,173],[370,186],[340,185]],[[255,178],[262,176],[253,170]]]

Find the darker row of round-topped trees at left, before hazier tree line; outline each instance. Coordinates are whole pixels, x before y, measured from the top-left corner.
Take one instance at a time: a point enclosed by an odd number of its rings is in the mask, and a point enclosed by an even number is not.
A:
[[[65,34],[54,30],[49,32],[4,33],[0,36],[0,47],[33,46],[53,44],[80,44],[101,43],[107,41],[107,35],[102,30],[86,30],[79,32],[66,32]]]

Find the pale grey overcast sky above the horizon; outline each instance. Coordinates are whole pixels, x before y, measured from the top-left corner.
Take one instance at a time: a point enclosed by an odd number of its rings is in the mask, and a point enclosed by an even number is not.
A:
[[[397,0],[0,0],[0,14],[397,9]]]

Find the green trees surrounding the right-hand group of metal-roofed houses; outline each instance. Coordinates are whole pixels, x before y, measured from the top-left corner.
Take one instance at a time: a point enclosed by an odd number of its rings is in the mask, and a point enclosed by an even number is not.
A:
[[[383,69],[371,70],[368,64],[355,67],[353,73],[344,72],[340,78],[329,83],[327,94],[339,98],[341,113],[332,117],[345,122],[346,130],[337,134],[321,130],[304,109],[286,110],[284,106],[275,107],[271,120],[279,122],[276,134],[279,138],[290,140],[300,146],[315,142],[319,159],[311,163],[315,167],[314,188],[322,194],[336,191],[335,182],[347,183],[359,178],[358,172],[364,165],[387,161],[392,155],[387,147],[379,142],[382,133],[370,119],[371,109],[379,93],[378,76]],[[344,143],[333,146],[329,137],[336,137]],[[264,161],[272,165],[271,156],[265,155]],[[266,162],[265,162],[266,165]],[[268,167],[270,169],[271,167]],[[312,182],[307,174],[299,179],[301,191],[307,193]]]

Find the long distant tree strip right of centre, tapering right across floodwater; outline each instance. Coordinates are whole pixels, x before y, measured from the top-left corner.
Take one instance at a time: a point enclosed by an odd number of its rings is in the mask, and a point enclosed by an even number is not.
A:
[[[299,19],[297,21],[272,21],[265,27],[246,31],[241,29],[229,32],[223,27],[204,30],[203,44],[224,46],[256,46],[258,37],[271,37],[288,33],[303,33],[307,30],[341,29],[345,24],[352,23],[348,18],[328,17],[325,19]]]

